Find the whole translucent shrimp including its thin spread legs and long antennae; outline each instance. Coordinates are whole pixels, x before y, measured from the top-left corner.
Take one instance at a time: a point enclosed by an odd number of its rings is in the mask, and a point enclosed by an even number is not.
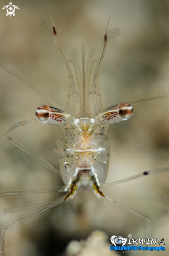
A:
[[[53,20],[52,22],[42,20],[40,23],[44,29],[47,29],[53,35],[54,41],[57,43],[59,51],[62,55],[69,77],[69,93],[67,95],[67,105],[64,111],[62,107],[59,109],[59,107],[56,108],[47,105],[39,106],[36,109],[36,118],[39,121],[50,125],[60,125],[63,131],[63,136],[61,141],[58,143],[57,150],[60,158],[60,171],[46,160],[38,157],[38,155],[31,152],[29,149],[22,146],[22,144],[8,136],[12,130],[33,123],[34,119],[19,121],[15,123],[5,133],[4,138],[17,148],[28,153],[31,155],[31,157],[46,165],[54,173],[61,175],[66,185],[62,187],[42,188],[25,191],[0,191],[0,196],[53,193],[58,191],[66,192],[67,194],[52,202],[40,204],[33,203],[31,205],[29,204],[29,207],[33,207],[31,212],[4,221],[1,225],[2,232],[0,239],[0,255],[2,255],[3,252],[5,231],[7,229],[27,219],[35,217],[39,213],[42,213],[49,208],[61,204],[68,198],[73,198],[77,192],[78,186],[80,185],[93,186],[93,190],[97,196],[102,196],[142,218],[147,222],[147,237],[150,237],[151,220],[149,217],[139,213],[137,210],[134,210],[125,204],[122,204],[117,200],[117,198],[110,197],[100,190],[101,186],[116,185],[150,174],[162,173],[169,170],[169,166],[164,166],[154,170],[144,171],[142,173],[118,181],[105,182],[109,166],[109,138],[107,136],[108,127],[111,124],[119,123],[120,121],[129,119],[133,114],[133,108],[128,103],[112,105],[111,107],[105,109],[102,106],[99,92],[100,65],[103,61],[107,42],[112,38],[115,38],[120,33],[118,28],[108,30],[108,23],[103,37],[100,57],[95,57],[94,50],[92,49],[86,61],[85,48],[83,46],[81,65],[78,62],[75,49],[72,49],[70,51],[69,57],[65,58],[65,55],[59,44],[57,31],[54,27]],[[39,88],[22,79],[12,71],[8,70],[2,64],[0,64],[0,66],[9,74],[12,74],[20,81],[34,88],[38,93],[42,94],[43,96],[47,96],[45,93],[39,90]],[[139,103],[142,101],[150,101],[152,99],[165,96],[166,95],[157,97],[151,96],[148,98],[141,98],[139,101],[134,102]],[[51,104],[55,106],[53,100],[50,97],[48,97],[48,99],[50,100]],[[153,197],[150,196],[148,199],[152,198]],[[161,201],[168,201],[168,198],[163,198],[162,196],[160,196],[160,198],[162,198]],[[15,209],[21,209],[21,207],[16,207]]]

